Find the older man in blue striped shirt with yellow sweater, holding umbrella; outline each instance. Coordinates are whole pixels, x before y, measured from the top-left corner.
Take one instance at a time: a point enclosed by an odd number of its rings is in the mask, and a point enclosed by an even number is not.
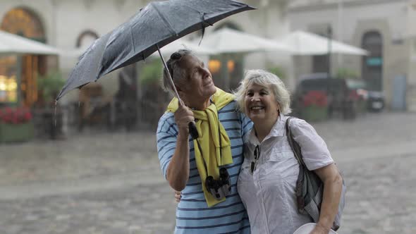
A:
[[[173,92],[170,73],[183,100],[172,99],[157,128],[161,170],[169,185],[182,192],[175,233],[250,233],[236,184],[243,137],[252,123],[236,111],[233,94],[214,86],[211,73],[191,51],[173,53],[167,66],[164,87]],[[195,122],[197,139],[190,137],[190,122]]]

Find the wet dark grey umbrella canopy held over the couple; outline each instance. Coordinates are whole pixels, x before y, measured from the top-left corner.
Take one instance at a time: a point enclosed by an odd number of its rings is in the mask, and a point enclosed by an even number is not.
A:
[[[252,9],[234,0],[153,1],[85,51],[56,100],[69,90],[147,58],[190,32]]]

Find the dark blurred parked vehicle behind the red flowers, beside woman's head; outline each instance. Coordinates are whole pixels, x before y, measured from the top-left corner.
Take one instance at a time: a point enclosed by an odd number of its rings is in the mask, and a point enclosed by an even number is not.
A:
[[[348,80],[328,78],[326,73],[307,75],[301,78],[293,95],[293,109],[300,113],[302,97],[310,91],[322,91],[328,99],[328,115],[341,114],[343,118],[353,119],[357,115],[357,104],[362,101],[357,90],[350,89]]]

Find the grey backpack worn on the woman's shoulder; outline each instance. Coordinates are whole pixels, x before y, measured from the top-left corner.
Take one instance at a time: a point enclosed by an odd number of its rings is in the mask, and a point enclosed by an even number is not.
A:
[[[322,203],[322,192],[324,191],[324,183],[313,171],[309,171],[305,166],[305,162],[302,159],[302,153],[298,142],[293,139],[292,132],[290,131],[290,118],[286,121],[286,136],[290,147],[295,154],[295,158],[299,162],[299,176],[296,182],[296,200],[298,203],[298,211],[301,214],[309,214],[313,221],[317,223],[319,221],[319,211]],[[341,226],[341,215],[343,213],[345,204],[345,192],[347,187],[345,186],[343,179],[343,189],[341,192],[341,199],[338,205],[338,214],[336,214],[334,223],[332,225],[333,230],[338,230]]]

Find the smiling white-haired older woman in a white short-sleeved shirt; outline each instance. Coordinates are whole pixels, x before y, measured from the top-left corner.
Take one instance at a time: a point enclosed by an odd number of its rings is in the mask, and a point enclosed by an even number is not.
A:
[[[290,148],[285,123],[290,94],[283,82],[264,70],[248,70],[235,93],[240,110],[254,123],[245,139],[238,192],[247,209],[252,233],[292,234],[310,216],[298,213],[295,185],[298,161]],[[324,183],[319,222],[312,233],[329,233],[338,211],[342,178],[324,140],[298,118],[290,121],[303,160]]]

